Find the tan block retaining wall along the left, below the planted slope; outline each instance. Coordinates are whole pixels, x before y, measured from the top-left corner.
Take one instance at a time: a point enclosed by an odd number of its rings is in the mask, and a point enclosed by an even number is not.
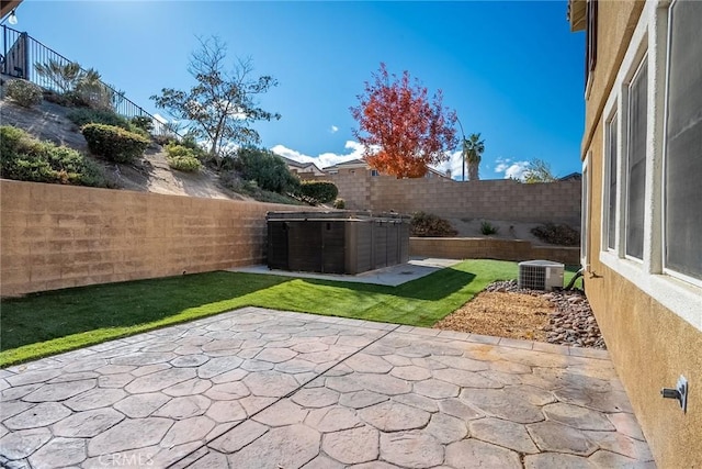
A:
[[[260,264],[265,212],[299,209],[0,180],[0,294]]]

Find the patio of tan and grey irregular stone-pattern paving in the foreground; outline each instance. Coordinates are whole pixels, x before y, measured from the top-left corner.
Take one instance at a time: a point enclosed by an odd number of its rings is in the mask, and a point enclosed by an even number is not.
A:
[[[607,354],[245,308],[0,370],[0,467],[655,468]]]

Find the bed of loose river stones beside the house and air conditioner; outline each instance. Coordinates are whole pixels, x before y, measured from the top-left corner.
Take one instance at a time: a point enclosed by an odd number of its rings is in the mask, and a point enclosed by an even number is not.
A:
[[[553,303],[556,311],[548,315],[548,325],[544,327],[550,344],[607,349],[590,303],[581,290],[530,290],[519,288],[517,280],[507,280],[492,282],[485,291],[531,294]]]

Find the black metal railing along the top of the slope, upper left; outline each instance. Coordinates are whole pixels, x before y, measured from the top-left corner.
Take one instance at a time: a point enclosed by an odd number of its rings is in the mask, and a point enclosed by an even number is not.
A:
[[[2,53],[0,72],[4,76],[32,81],[45,90],[52,90],[59,94],[71,91],[75,86],[75,83],[61,80],[56,74],[37,72],[37,65],[47,67],[49,64],[55,64],[64,67],[73,64],[73,62],[45,46],[27,33],[13,30],[3,24],[0,52]],[[84,76],[89,70],[80,68],[80,72]],[[155,135],[181,136],[171,125],[159,121],[144,108],[126,98],[124,91],[116,90],[115,87],[103,80],[84,86],[81,94],[88,101],[102,103],[103,108],[112,109],[124,118],[149,118],[154,125],[151,133]]]

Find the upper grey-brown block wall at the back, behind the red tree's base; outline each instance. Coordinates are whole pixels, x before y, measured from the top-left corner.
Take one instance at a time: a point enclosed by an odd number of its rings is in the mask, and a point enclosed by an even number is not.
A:
[[[445,178],[397,179],[366,171],[327,177],[348,209],[442,217],[580,225],[581,181],[525,185],[511,179],[458,182]]]

